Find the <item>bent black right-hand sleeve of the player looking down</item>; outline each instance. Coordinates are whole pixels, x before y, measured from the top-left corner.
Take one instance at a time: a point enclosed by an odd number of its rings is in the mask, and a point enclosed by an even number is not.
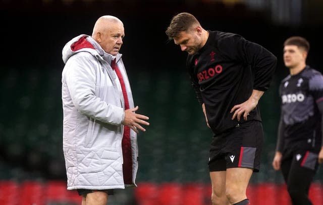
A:
[[[251,66],[254,74],[253,89],[266,91],[269,88],[277,66],[277,57],[273,53],[239,35],[219,41],[218,47],[232,60]]]

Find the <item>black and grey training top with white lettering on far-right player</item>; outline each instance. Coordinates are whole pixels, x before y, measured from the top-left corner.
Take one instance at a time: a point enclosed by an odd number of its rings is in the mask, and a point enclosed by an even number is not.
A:
[[[281,120],[277,151],[321,148],[323,76],[306,66],[296,75],[288,75],[279,88]]]

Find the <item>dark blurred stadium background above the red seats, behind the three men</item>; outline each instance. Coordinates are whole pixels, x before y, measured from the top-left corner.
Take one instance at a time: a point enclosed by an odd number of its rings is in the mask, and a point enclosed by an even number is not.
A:
[[[241,34],[278,57],[271,88],[259,102],[265,146],[260,172],[250,183],[281,184],[282,175],[273,170],[271,162],[280,113],[278,85],[288,74],[282,61],[283,42],[291,35],[307,38],[311,43],[307,63],[323,70],[319,33],[323,28],[323,2],[319,0],[0,1],[0,179],[18,187],[25,181],[45,187],[47,182],[66,180],[62,48],[79,34],[91,35],[98,17],[113,15],[125,26],[121,53],[135,105],[150,117],[147,131],[138,135],[138,184],[151,183],[159,188],[166,183],[209,186],[206,164],[211,132],[190,88],[186,53],[165,35],[171,18],[179,12],[192,13],[205,29]],[[319,187],[322,173],[319,168],[315,176]],[[0,201],[4,201],[7,192],[1,187],[0,183]],[[50,204],[56,203],[68,202],[61,198]],[[117,191],[110,204],[139,202],[131,189]]]

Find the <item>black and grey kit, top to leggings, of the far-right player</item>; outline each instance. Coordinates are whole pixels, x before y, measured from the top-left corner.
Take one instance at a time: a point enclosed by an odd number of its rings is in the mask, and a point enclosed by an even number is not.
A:
[[[292,203],[310,205],[309,187],[322,146],[323,76],[306,66],[283,79],[279,93],[282,101],[277,151],[283,154],[281,170]]]

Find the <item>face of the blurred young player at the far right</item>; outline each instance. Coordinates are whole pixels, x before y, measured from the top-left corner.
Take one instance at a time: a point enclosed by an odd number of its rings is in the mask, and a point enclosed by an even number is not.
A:
[[[305,62],[306,52],[294,45],[287,45],[284,47],[284,63],[288,68],[297,67],[299,64]]]

